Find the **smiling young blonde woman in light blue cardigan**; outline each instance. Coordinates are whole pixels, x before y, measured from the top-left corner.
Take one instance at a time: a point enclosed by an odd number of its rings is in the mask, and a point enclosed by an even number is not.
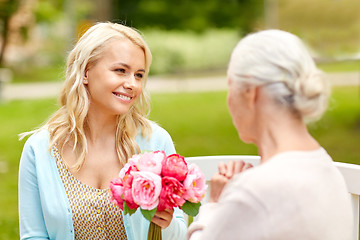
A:
[[[98,23],[67,59],[60,109],[26,141],[19,169],[21,239],[147,238],[149,222],[109,202],[109,182],[142,150],[175,153],[146,118],[151,53],[132,28]],[[26,135],[26,134],[24,134]],[[181,210],[157,212],[163,239],[184,239]]]

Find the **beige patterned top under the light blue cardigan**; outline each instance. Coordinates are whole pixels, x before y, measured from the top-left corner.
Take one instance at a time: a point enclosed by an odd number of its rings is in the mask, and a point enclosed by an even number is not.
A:
[[[56,147],[53,152],[72,210],[75,240],[126,240],[121,210],[109,201],[109,189],[97,189],[80,182],[70,173]]]

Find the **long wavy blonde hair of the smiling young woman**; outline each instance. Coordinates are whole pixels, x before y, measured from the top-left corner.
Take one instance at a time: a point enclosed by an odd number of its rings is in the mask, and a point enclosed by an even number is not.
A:
[[[67,143],[73,143],[77,157],[73,167],[79,170],[87,155],[87,114],[89,96],[83,84],[86,70],[101,57],[104,47],[114,39],[127,38],[139,46],[145,54],[145,76],[142,80],[143,91],[128,113],[118,116],[116,128],[116,151],[121,163],[140,151],[135,141],[141,130],[143,136],[150,136],[151,126],[146,116],[149,112],[149,96],[145,91],[146,78],[151,65],[151,52],[140,33],[135,29],[116,23],[97,23],[79,39],[67,58],[66,79],[60,95],[60,109],[55,112],[41,129],[50,132],[50,148],[54,145],[63,151]]]

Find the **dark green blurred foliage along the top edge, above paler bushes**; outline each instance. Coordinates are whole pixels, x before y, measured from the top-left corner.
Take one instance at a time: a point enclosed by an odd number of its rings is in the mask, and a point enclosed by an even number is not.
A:
[[[135,28],[197,32],[236,28],[250,32],[263,13],[263,0],[113,0],[113,18]]]

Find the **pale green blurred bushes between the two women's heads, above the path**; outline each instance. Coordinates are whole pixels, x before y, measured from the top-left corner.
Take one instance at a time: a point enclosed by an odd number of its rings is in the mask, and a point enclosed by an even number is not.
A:
[[[233,29],[143,31],[152,55],[150,74],[225,73],[230,53],[240,39]]]

